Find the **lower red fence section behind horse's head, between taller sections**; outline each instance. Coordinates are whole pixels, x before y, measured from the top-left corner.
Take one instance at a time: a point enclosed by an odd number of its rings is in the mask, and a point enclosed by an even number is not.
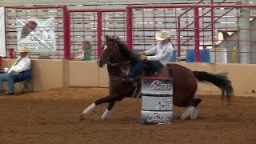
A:
[[[118,36],[126,41],[126,9],[115,10],[69,10],[71,58],[81,50],[81,42],[93,46],[92,58],[101,54],[104,36]]]

